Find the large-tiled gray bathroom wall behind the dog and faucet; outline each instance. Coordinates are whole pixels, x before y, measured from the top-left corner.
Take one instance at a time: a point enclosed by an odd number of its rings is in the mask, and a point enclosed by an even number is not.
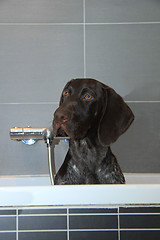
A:
[[[11,141],[14,126],[50,127],[72,78],[113,87],[135,114],[112,149],[124,172],[160,172],[160,2],[0,1],[0,175],[48,174],[44,142]],[[67,144],[55,148],[57,168]]]

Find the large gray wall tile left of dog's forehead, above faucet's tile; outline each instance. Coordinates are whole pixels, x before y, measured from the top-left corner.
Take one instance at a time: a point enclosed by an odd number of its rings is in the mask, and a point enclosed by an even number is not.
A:
[[[82,26],[0,26],[0,102],[58,101],[83,77]]]

